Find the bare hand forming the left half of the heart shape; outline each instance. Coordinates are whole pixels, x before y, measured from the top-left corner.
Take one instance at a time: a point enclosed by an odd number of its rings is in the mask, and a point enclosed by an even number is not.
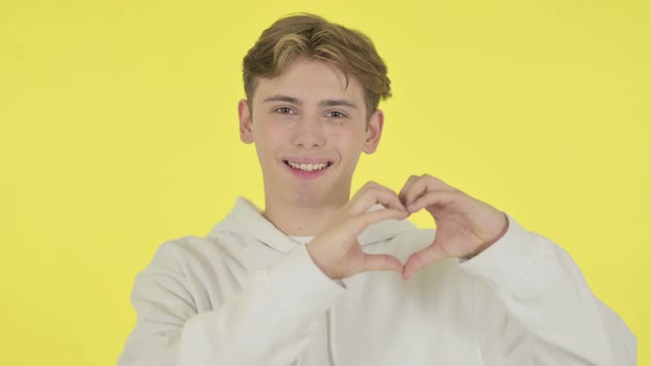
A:
[[[385,209],[369,212],[375,204]],[[405,219],[409,213],[392,190],[366,183],[337,217],[308,244],[314,263],[331,279],[343,279],[371,270],[403,272],[403,263],[391,255],[367,255],[357,236],[371,224],[385,219]]]

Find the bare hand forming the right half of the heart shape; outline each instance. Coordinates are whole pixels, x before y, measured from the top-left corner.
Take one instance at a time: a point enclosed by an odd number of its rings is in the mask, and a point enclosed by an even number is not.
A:
[[[412,175],[399,198],[409,213],[427,209],[437,226],[434,243],[414,252],[405,262],[405,280],[438,259],[473,257],[509,228],[509,220],[500,211],[427,174]]]

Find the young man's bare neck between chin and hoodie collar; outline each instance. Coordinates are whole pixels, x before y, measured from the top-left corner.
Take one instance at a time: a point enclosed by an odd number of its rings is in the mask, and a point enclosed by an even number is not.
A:
[[[316,236],[346,202],[348,197],[343,202],[332,200],[321,205],[295,205],[266,197],[264,216],[286,235]]]

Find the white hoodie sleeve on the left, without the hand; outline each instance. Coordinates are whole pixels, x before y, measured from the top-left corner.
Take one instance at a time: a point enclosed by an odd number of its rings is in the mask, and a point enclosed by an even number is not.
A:
[[[138,316],[118,366],[292,365],[344,290],[312,262],[305,246],[281,263],[252,271],[244,289],[198,312],[179,266],[163,245],[134,286]]]

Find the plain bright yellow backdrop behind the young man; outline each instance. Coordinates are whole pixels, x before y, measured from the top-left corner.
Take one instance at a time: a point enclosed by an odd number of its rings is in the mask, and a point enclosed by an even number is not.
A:
[[[309,11],[371,35],[394,98],[355,186],[430,173],[566,248],[651,365],[647,1],[2,1],[2,365],[114,365],[164,240],[263,203],[241,61]],[[426,216],[417,223],[429,226]]]

